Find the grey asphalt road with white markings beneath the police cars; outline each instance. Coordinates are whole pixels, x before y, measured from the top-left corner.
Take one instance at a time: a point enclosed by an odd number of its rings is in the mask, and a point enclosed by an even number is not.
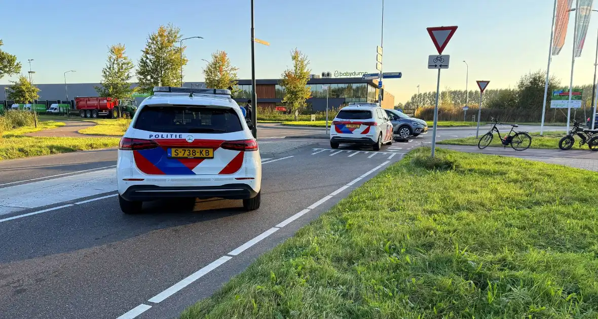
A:
[[[322,131],[267,126],[258,132],[269,143]],[[437,133],[439,140],[471,134],[475,128]],[[429,140],[431,130],[380,152],[313,140],[319,145],[293,155],[263,156],[263,202],[251,213],[240,201],[179,200],[126,216],[115,187],[103,182],[114,171],[114,149],[2,161],[0,189],[29,202],[0,210],[0,318],[174,318]],[[73,176],[95,193],[55,191],[72,186]],[[26,196],[40,188],[46,196]]]

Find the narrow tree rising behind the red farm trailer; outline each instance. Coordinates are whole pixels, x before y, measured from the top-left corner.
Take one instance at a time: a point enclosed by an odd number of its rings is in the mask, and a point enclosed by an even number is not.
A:
[[[108,48],[106,66],[102,69],[101,87],[95,87],[97,94],[102,97],[127,99],[131,97],[133,89],[130,79],[133,77],[133,62],[124,54],[124,44],[111,45]]]

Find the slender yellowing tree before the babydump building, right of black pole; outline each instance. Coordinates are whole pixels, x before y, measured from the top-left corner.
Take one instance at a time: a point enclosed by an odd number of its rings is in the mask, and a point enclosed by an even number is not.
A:
[[[282,102],[288,105],[291,112],[294,112],[295,121],[297,121],[299,111],[306,106],[305,100],[309,99],[312,94],[307,86],[309,73],[312,70],[307,68],[309,65],[307,56],[297,48],[291,51],[291,59],[293,60],[293,68],[286,69],[282,73],[280,86],[285,88],[285,96],[283,96]]]

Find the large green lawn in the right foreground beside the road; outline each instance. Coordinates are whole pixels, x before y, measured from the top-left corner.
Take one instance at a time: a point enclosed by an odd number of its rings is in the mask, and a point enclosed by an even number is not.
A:
[[[597,173],[443,149],[449,165],[428,170],[429,152],[391,165],[181,318],[598,316]]]

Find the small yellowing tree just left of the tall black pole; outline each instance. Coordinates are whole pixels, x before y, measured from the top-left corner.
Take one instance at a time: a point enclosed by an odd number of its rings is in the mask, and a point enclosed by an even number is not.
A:
[[[209,88],[228,88],[237,87],[237,71],[239,68],[230,64],[230,59],[225,51],[216,51],[212,53],[212,61],[203,69],[203,75],[206,81],[206,87]]]

